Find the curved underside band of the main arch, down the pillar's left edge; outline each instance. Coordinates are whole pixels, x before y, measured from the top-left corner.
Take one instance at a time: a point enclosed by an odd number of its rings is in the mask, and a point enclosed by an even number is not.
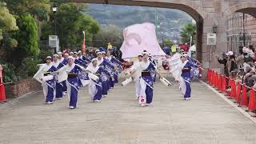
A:
[[[66,0],[66,2],[86,2],[86,3],[100,3],[103,0]],[[146,0],[108,0],[109,4],[114,5],[126,5],[126,6],[150,6],[150,7],[161,7],[170,8],[176,10],[182,10],[194,18],[197,23],[197,57],[198,60],[202,61],[202,36],[203,36],[203,18],[207,14],[202,10],[199,0],[179,0],[179,1],[146,1]]]

